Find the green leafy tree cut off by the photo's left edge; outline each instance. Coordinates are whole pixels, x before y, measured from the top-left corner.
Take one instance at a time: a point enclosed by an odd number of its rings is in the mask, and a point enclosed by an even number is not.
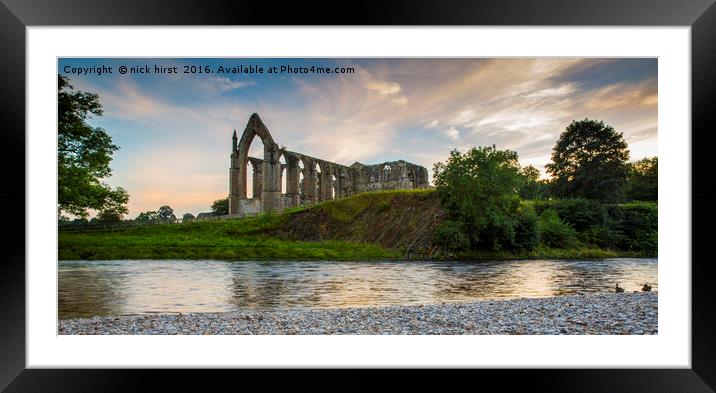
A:
[[[75,91],[62,75],[57,85],[58,215],[87,217],[89,209],[122,211],[117,205],[127,203],[127,192],[102,182],[111,176],[109,163],[119,147],[102,128],[87,124],[91,115],[102,115],[99,97]]]

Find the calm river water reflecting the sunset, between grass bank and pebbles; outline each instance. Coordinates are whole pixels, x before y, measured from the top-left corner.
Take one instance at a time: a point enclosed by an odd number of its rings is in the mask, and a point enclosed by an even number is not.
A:
[[[494,262],[60,261],[60,319],[428,304],[657,290],[657,260]]]

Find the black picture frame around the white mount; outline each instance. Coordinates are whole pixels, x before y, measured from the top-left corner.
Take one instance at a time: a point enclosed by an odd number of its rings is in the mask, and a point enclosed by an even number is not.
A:
[[[554,26],[690,26],[692,56],[692,338],[691,369],[542,369],[473,370],[469,379],[502,388],[528,386],[532,391],[565,392],[712,392],[716,387],[716,313],[712,301],[716,280],[708,257],[716,192],[711,191],[712,113],[716,103],[716,5],[714,0],[489,0],[393,1],[333,3],[293,2],[277,6],[258,1],[154,0],[1,0],[0,79],[2,139],[0,153],[5,209],[6,258],[0,263],[0,388],[8,391],[133,391],[173,381],[188,388],[194,375],[169,370],[39,370],[25,369],[25,28],[58,25],[554,25]],[[320,12],[319,12],[320,11]],[[673,130],[671,130],[673,131]],[[709,154],[711,153],[711,154]],[[711,164],[711,165],[710,165]],[[694,181],[694,180],[701,180]],[[24,206],[21,211],[19,206]],[[702,230],[699,230],[699,227]],[[688,263],[688,261],[668,261]],[[648,354],[645,354],[648,356]],[[361,373],[342,370],[340,390],[370,388],[375,382]],[[255,372],[265,379],[266,372]],[[382,387],[403,386],[401,376]],[[213,372],[202,390],[236,383],[233,374]],[[242,377],[242,378],[245,378]],[[311,384],[315,371],[293,372],[283,379]],[[456,379],[420,381],[441,390]],[[205,380],[208,381],[208,380]],[[246,382],[241,382],[244,385]],[[246,386],[246,385],[244,385]],[[294,385],[296,386],[296,385]],[[163,387],[163,388],[162,388]]]

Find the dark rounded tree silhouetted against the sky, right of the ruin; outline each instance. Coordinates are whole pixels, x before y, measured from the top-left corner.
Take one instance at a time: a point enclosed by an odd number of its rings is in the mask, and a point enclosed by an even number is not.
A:
[[[624,135],[602,121],[573,121],[552,150],[553,191],[558,197],[623,200],[629,150]]]

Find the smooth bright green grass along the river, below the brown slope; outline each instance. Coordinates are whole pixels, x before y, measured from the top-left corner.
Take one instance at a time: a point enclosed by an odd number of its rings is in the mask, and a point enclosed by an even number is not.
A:
[[[397,251],[342,241],[281,240],[265,233],[290,214],[240,220],[128,228],[115,232],[59,234],[59,259],[349,260],[396,258]]]

